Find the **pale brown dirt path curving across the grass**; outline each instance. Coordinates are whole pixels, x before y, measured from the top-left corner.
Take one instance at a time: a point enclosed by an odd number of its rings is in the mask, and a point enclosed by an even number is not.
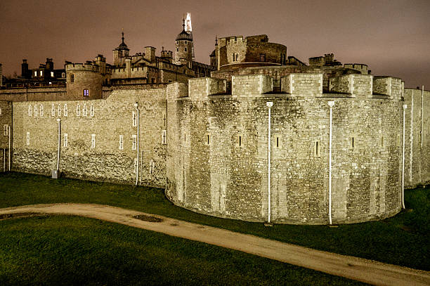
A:
[[[153,230],[179,238],[187,238],[189,240],[206,242],[211,245],[236,249],[373,285],[430,285],[430,272],[383,264],[353,256],[322,252],[275,240],[235,233],[221,228],[202,226],[196,223],[178,221],[164,216],[145,214],[119,207],[100,204],[36,204],[0,209],[0,214],[32,212],[74,214],[101,219],[103,221],[122,223],[127,226]],[[153,216],[162,219],[162,221],[149,222],[133,219],[133,216],[138,214]]]

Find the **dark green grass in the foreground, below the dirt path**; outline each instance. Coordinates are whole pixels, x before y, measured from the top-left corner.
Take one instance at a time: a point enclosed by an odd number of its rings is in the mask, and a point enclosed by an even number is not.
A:
[[[79,216],[0,221],[0,285],[363,285]]]

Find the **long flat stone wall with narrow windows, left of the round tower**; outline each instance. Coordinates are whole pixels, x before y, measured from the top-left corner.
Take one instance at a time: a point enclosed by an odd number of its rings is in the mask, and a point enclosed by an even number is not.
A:
[[[105,100],[13,103],[13,170],[50,175],[56,169],[60,119],[60,172],[64,176],[134,183],[138,164],[143,185],[162,187],[165,98],[165,89],[129,89],[114,90]],[[137,144],[134,103],[140,110],[138,162],[133,143]]]

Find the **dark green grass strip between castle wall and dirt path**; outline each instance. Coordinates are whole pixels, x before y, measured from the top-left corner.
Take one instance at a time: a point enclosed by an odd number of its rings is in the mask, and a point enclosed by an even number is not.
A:
[[[161,189],[96,183],[32,174],[0,174],[0,207],[53,202],[110,204],[226,228],[339,254],[430,270],[430,189],[405,191],[406,207],[384,221],[327,226],[275,225],[204,216],[176,207]]]

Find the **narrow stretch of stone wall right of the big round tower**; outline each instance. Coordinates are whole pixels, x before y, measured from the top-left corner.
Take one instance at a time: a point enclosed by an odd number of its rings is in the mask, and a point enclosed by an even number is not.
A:
[[[405,89],[405,105],[405,187],[415,188],[430,183],[430,91]]]

